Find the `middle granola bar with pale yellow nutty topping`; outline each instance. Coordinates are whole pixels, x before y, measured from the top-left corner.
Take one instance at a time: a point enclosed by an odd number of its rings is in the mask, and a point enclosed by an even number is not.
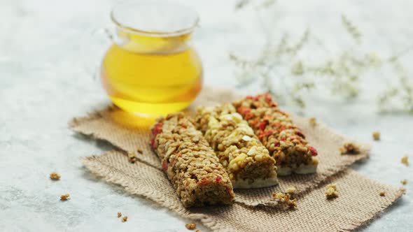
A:
[[[195,125],[216,152],[235,189],[278,183],[275,160],[234,106],[198,107]]]

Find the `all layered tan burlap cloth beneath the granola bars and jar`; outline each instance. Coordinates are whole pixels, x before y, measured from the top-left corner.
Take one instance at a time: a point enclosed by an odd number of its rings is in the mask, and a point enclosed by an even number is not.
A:
[[[232,92],[207,88],[194,106],[235,99],[237,96]],[[188,113],[192,112],[193,107],[188,108]],[[339,154],[339,147],[348,139],[321,123],[311,126],[308,119],[295,116],[293,120],[318,150],[320,164],[316,174],[279,177],[276,187],[236,190],[236,203],[232,206],[197,209],[183,208],[160,169],[160,160],[148,145],[148,129],[137,124],[133,116],[109,106],[88,117],[74,118],[69,125],[74,131],[107,140],[119,148],[101,156],[84,157],[83,164],[92,173],[183,217],[200,220],[214,231],[349,231],[373,219],[400,198],[401,188],[379,184],[346,168],[367,157],[367,145],[362,145],[362,152],[357,155]],[[127,152],[137,154],[135,164],[128,161]],[[332,201],[324,196],[325,184],[330,182],[337,182],[339,189],[339,197]],[[288,187],[297,189],[297,210],[283,211],[272,198],[273,192]],[[386,191],[386,196],[379,196],[379,191]]]

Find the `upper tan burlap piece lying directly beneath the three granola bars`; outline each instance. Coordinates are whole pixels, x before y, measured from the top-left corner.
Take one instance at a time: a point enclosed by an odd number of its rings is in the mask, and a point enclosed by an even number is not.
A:
[[[199,104],[211,106],[218,103],[218,101],[228,102],[234,101],[235,99],[239,99],[239,96],[233,92],[206,88],[203,89],[202,94],[200,94],[200,97],[193,106],[186,111],[188,113],[193,112],[194,106]],[[126,119],[124,117],[126,117]],[[127,155],[127,152],[136,150],[136,147],[143,147],[142,150],[144,150],[144,154],[137,155],[137,160],[160,169],[160,161],[158,157],[153,154],[148,146],[148,138],[146,138],[148,137],[147,129],[139,128],[136,125],[130,125],[132,120],[128,117],[130,116],[128,116],[127,113],[123,113],[122,110],[118,109],[116,106],[108,106],[104,108],[104,110],[97,110],[90,113],[87,117],[73,118],[71,122],[69,122],[69,126],[73,131],[78,133],[83,133],[98,140],[108,141],[120,150],[125,151],[125,155]],[[292,117],[295,124],[297,124],[304,134],[307,135],[311,145],[317,144],[317,141],[311,140],[311,138],[315,138],[315,140],[318,140],[318,142],[321,143],[321,145],[315,145],[315,147],[320,147],[321,149],[321,154],[318,155],[321,162],[318,166],[317,174],[279,177],[280,184],[276,187],[248,189],[247,191],[236,190],[235,201],[249,206],[275,206],[277,204],[276,201],[270,197],[272,192],[285,191],[286,188],[290,186],[296,187],[297,193],[299,194],[311,191],[311,189],[314,189],[318,184],[323,183],[331,175],[343,171],[346,166],[368,157],[370,152],[369,145],[362,145],[360,154],[339,155],[339,146],[341,146],[342,143],[349,141],[349,139],[323,123],[318,122],[316,126],[310,126],[308,119],[297,116]],[[331,147],[331,145],[334,146]],[[328,149],[327,152],[323,152],[323,147],[328,146],[330,146],[330,149]],[[324,153],[328,153],[328,157],[323,157]],[[334,153],[334,156],[331,156],[330,153]]]

